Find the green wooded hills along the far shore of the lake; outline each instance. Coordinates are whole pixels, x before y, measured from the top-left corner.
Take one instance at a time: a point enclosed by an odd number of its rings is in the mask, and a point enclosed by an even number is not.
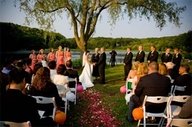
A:
[[[57,48],[59,45],[78,49],[74,38],[66,38],[60,33],[44,31],[37,28],[20,26],[13,23],[0,23],[1,51],[31,50],[40,48]],[[160,38],[111,38],[94,37],[89,40],[88,49],[104,46],[107,49],[122,49],[131,47],[137,50],[138,45],[143,45],[149,51],[150,45],[155,45],[159,51],[166,47],[180,48],[187,58],[192,59],[192,31],[178,36]]]

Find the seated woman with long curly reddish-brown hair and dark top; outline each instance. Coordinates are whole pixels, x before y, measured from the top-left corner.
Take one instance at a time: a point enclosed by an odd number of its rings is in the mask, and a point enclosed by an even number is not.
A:
[[[55,97],[58,108],[64,103],[59,96],[56,85],[51,81],[50,70],[47,67],[41,67],[37,70],[28,93],[32,96]]]

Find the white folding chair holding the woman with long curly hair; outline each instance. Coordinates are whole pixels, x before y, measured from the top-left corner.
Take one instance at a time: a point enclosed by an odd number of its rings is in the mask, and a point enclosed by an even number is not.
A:
[[[50,114],[49,116],[44,116],[45,110],[42,109],[38,109],[38,113],[41,116],[41,118],[45,118],[45,117],[51,117],[55,118],[55,113],[56,113],[56,103],[55,103],[55,97],[44,97],[44,96],[32,96],[33,98],[36,99],[37,104],[45,104],[44,107],[46,109],[47,105],[46,104],[53,104],[53,111],[52,114]]]

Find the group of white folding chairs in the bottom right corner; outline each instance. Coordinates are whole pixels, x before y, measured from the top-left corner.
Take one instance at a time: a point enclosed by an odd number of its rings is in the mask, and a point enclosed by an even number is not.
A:
[[[141,120],[138,121],[137,126],[139,127],[140,125],[143,125],[144,127],[146,127],[146,125],[158,125],[158,127],[162,127],[162,126],[173,126],[175,125],[175,123],[177,123],[177,121],[180,121],[180,126],[178,127],[189,127],[192,126],[190,124],[186,124],[187,120],[188,122],[192,122],[192,118],[191,119],[179,119],[179,118],[175,118],[175,116],[177,116],[180,111],[181,111],[181,107],[180,106],[176,106],[176,105],[172,105],[172,102],[179,102],[179,103],[185,103],[190,96],[188,95],[180,95],[180,96],[145,96],[144,101],[143,101],[143,123],[141,123]],[[162,103],[166,103],[166,108],[163,112],[160,113],[152,113],[152,112],[148,112],[146,111],[146,103],[153,103],[153,104],[162,104]],[[161,118],[159,123],[147,123],[147,118],[156,118],[159,117]],[[164,125],[164,120],[167,120],[167,124]],[[183,122],[181,122],[183,120]]]

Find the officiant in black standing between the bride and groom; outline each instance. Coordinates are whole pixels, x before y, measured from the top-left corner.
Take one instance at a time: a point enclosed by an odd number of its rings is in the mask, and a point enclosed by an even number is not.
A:
[[[99,77],[99,68],[98,68],[98,61],[99,61],[99,48],[95,48],[95,53],[93,53],[93,55],[91,56],[91,62],[92,63],[96,63],[93,66],[93,73],[92,76],[95,77],[97,79],[97,77]]]

